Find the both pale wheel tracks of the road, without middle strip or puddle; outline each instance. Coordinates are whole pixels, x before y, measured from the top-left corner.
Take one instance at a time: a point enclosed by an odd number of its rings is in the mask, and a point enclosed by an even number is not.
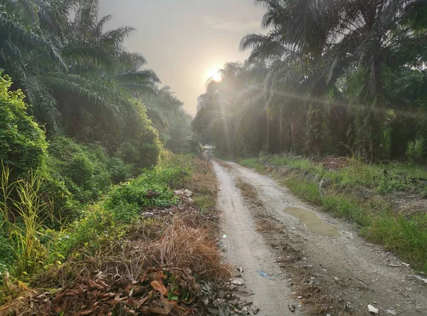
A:
[[[362,240],[351,224],[302,203],[269,177],[233,162],[221,162],[228,164],[227,168],[216,159],[213,163],[220,182],[218,208],[223,211],[226,256],[233,265],[244,269],[243,279],[253,293],[254,305],[260,307],[258,315],[305,313],[303,307],[296,312],[288,310],[288,304],[298,305],[291,297],[294,289],[286,282],[293,276],[279,268],[277,258],[282,254],[255,231],[248,202],[235,185],[238,178],[255,187],[264,214],[281,223],[287,242],[303,254],[300,264],[315,276],[315,282],[327,288],[335,301],[348,305],[353,315],[369,315],[368,304],[379,308],[380,315],[393,315],[389,313],[393,310],[396,315],[427,315],[427,284],[409,277],[413,274],[411,268],[389,266],[401,261]],[[290,206],[312,211],[322,221],[336,226],[339,236],[321,236],[308,230],[283,211]],[[268,273],[269,277],[263,278],[257,271]]]

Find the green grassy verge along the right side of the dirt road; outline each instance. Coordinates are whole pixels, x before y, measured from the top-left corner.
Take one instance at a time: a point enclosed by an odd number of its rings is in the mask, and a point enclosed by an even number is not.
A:
[[[398,162],[339,161],[343,164],[334,169],[327,167],[327,158],[314,162],[281,155],[240,159],[239,163],[273,174],[296,196],[334,216],[348,218],[369,241],[427,272],[427,214],[418,209],[400,211],[393,199],[398,193],[406,194],[407,199],[426,198],[427,169]]]

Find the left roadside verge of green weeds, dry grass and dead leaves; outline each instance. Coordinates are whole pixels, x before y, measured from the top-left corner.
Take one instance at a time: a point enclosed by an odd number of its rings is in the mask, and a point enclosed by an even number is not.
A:
[[[192,191],[194,202],[174,194],[176,189]],[[4,264],[0,315],[30,315],[35,307],[46,313],[65,308],[64,315],[207,310],[210,303],[202,297],[213,302],[215,281],[230,275],[216,247],[216,193],[209,162],[171,155],[115,186],[70,226],[47,231],[39,221],[30,240],[36,247],[22,244],[27,248],[16,248]],[[26,228],[24,222],[5,223],[16,231]],[[23,265],[27,251],[36,257]],[[206,288],[204,282],[214,283]],[[85,292],[76,296],[81,288]]]

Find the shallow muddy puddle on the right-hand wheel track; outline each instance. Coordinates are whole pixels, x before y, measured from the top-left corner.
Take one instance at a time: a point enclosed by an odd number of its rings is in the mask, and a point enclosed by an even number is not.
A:
[[[300,220],[310,231],[319,233],[323,236],[339,236],[338,230],[335,226],[325,223],[316,216],[313,212],[299,207],[287,207],[283,210],[286,214],[292,215]]]

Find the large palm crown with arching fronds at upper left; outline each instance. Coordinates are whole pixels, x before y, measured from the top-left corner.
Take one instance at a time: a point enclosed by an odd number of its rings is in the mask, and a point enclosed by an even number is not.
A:
[[[97,7],[97,0],[0,0],[0,64],[49,131],[65,124],[73,135],[95,115],[118,127],[135,117],[130,97],[159,83],[141,69],[143,56],[122,45],[133,28],[103,31],[111,16],[98,19]]]

